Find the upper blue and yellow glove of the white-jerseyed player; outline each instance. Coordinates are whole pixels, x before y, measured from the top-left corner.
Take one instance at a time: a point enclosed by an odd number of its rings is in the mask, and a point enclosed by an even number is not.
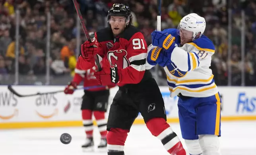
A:
[[[175,48],[175,37],[171,34],[162,31],[153,31],[151,33],[152,37],[152,45],[162,47],[164,49],[170,49],[169,51],[173,51]]]

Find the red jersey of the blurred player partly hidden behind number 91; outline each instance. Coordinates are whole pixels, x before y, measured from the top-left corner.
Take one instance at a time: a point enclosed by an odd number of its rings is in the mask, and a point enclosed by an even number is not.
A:
[[[93,74],[94,74],[94,70],[92,69],[82,70],[77,64],[73,81],[79,85],[83,80],[83,87],[98,86],[99,84],[97,82],[97,79]],[[108,85],[108,87],[97,87],[97,88],[87,89],[87,91],[102,91],[102,90],[106,90],[107,88],[112,88],[114,86],[115,84]]]

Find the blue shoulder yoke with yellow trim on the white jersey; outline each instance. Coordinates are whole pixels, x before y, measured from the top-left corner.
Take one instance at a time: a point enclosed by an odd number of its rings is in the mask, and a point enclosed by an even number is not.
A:
[[[188,44],[193,45],[197,49],[200,49],[202,51],[210,51],[210,52],[215,51],[215,46],[213,45],[213,42],[211,42],[211,40],[209,40],[209,38],[207,38],[204,35],[202,35],[200,38]]]

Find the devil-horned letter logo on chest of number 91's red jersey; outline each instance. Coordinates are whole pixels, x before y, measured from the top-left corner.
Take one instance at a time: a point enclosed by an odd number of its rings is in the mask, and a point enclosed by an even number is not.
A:
[[[112,66],[118,68],[126,68],[129,66],[129,61],[126,58],[127,52],[124,49],[109,51],[108,59]]]

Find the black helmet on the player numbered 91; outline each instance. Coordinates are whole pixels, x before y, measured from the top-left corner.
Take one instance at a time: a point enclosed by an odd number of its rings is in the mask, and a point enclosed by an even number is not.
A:
[[[128,21],[131,17],[131,10],[125,4],[113,4],[112,8],[109,9],[108,12],[108,21],[111,16],[124,16],[126,21]]]

